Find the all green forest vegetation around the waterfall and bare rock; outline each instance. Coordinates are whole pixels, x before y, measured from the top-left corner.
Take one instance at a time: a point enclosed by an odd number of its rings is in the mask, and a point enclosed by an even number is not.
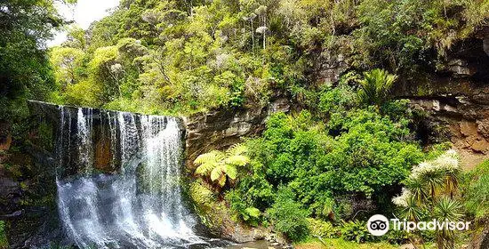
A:
[[[469,232],[373,237],[366,221],[373,213],[487,219],[489,160],[464,172],[450,143],[421,141],[425,114],[392,87],[441,67],[446,51],[488,20],[486,0],[121,0],[83,30],[62,20],[53,0],[8,0],[0,121],[20,140],[28,99],[186,116],[262,107],[282,92],[296,111],[196,158],[189,191],[199,214],[223,207],[306,244],[459,248]],[[46,48],[61,27],[67,41]],[[338,55],[349,70],[320,81],[321,58]]]

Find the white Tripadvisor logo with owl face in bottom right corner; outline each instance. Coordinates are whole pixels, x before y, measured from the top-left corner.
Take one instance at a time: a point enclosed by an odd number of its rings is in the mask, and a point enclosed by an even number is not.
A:
[[[412,232],[414,230],[468,230],[470,221],[406,221],[399,219],[390,219],[391,229],[405,230]],[[389,220],[381,214],[375,214],[367,221],[367,229],[373,236],[382,236],[389,231]]]

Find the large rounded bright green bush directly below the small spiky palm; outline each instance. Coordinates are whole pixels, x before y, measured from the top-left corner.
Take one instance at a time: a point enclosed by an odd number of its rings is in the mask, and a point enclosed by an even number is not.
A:
[[[330,133],[339,134],[331,149],[317,157],[326,185],[336,193],[360,192],[370,197],[384,186],[404,180],[421,161],[419,145],[410,142],[405,122],[395,123],[373,108],[333,115]]]

